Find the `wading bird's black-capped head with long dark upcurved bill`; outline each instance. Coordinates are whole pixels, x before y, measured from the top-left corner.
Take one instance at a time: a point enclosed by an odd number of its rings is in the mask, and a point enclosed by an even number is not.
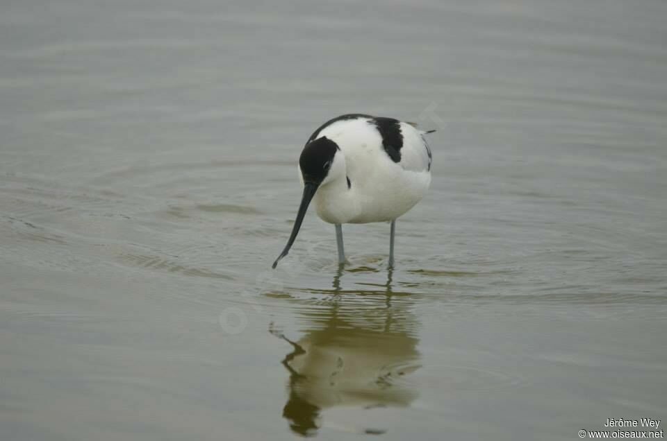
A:
[[[278,259],[274,261],[273,268],[276,268],[278,261],[285,257],[292,248],[292,244],[297,239],[297,234],[299,234],[304,216],[306,216],[308,205],[318,188],[340,178],[346,179],[345,158],[343,153],[340,152],[338,144],[327,137],[320,137],[304,147],[301,157],[299,157],[299,171],[304,184],[304,194],[301,198],[301,205],[299,205],[290,239]]]

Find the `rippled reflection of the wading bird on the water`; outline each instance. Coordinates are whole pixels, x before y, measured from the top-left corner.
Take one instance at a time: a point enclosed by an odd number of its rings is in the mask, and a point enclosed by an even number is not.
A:
[[[300,311],[308,321],[302,338],[271,329],[293,347],[282,361],[290,373],[283,417],[299,435],[315,435],[326,408],[409,406],[417,397],[406,378],[419,367],[411,295],[393,292],[391,270],[380,289],[344,291],[342,271],[333,289],[309,291],[327,297],[324,306]]]

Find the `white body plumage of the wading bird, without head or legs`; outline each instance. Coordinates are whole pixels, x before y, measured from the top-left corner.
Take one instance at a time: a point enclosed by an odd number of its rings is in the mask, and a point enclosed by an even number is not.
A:
[[[368,118],[344,119],[320,130],[315,139],[327,137],[340,148],[313,198],[322,220],[334,224],[394,220],[424,197],[431,184],[425,132],[404,122],[400,132],[401,159],[394,162]],[[299,177],[303,182],[300,166]]]

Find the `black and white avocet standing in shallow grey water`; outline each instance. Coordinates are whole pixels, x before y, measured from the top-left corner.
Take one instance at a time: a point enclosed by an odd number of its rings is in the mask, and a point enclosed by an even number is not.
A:
[[[311,200],[318,216],[336,227],[338,263],[345,263],[344,223],[390,222],[389,266],[394,264],[396,219],[431,184],[431,149],[413,123],[366,114],[345,114],[322,124],[299,157],[304,193],[292,234],[274,261],[290,251]]]

